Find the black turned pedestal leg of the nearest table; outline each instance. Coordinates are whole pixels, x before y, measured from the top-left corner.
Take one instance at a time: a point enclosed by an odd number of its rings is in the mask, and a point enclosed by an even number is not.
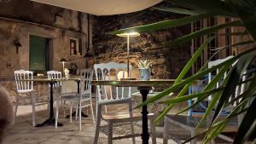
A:
[[[140,93],[143,96],[143,101],[147,100],[148,92],[151,88],[150,87],[140,87]],[[142,139],[143,139],[143,144],[148,144],[148,107],[147,105],[143,106],[143,134],[142,134]]]

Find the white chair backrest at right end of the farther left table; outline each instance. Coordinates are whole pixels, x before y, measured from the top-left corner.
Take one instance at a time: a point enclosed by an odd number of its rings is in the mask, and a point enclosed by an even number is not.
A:
[[[93,78],[93,69],[82,69],[81,73],[81,84],[80,84],[80,93],[81,95],[91,93],[91,80]]]

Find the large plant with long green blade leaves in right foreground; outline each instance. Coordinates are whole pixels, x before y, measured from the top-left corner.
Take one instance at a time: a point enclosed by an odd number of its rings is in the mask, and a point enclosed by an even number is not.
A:
[[[226,16],[230,18],[234,18],[231,22],[227,22],[221,25],[207,27],[197,32],[191,32],[188,35],[183,37],[178,37],[175,40],[170,42],[166,42],[164,44],[180,44],[184,42],[188,42],[195,37],[206,36],[212,32],[217,32],[220,29],[230,28],[235,26],[243,26],[245,27],[245,32],[242,35],[247,35],[251,37],[251,40],[233,43],[231,45],[224,46],[219,49],[225,49],[234,46],[241,46],[244,44],[255,44],[256,40],[256,1],[255,0],[169,0],[172,3],[176,3],[178,7],[176,8],[155,8],[164,10],[166,12],[178,13],[178,14],[188,14],[183,18],[177,20],[164,20],[153,24],[148,24],[145,26],[135,26],[131,28],[125,28],[122,30],[110,32],[110,34],[118,34],[121,32],[129,32],[129,31],[137,31],[137,32],[150,32],[156,31],[166,28],[171,28],[174,26],[183,26],[190,24],[191,22],[195,22],[196,20],[202,20],[211,18],[213,16]],[[235,33],[233,33],[235,34]],[[238,34],[238,33],[236,33]],[[214,115],[212,119],[212,124],[208,127],[208,130],[203,131],[206,133],[204,138],[204,143],[208,143],[212,139],[214,139],[217,135],[220,134],[222,130],[224,130],[225,126],[228,124],[231,118],[237,117],[237,115],[241,113],[245,113],[239,130],[237,132],[234,143],[240,144],[247,141],[249,135],[253,133],[253,130],[256,130],[256,75],[254,72],[251,72],[249,77],[247,78],[247,89],[241,95],[238,95],[236,99],[230,97],[234,95],[236,86],[241,85],[241,78],[243,73],[246,72],[248,66],[252,63],[255,58],[255,48],[247,49],[239,55],[234,56],[230,60],[226,60],[218,66],[212,66],[211,68],[207,68],[207,63],[204,66],[201,66],[201,69],[195,73],[195,75],[184,78],[184,76],[189,72],[192,65],[195,61],[200,57],[202,51],[207,48],[207,43],[212,41],[212,37],[209,37],[204,43],[201,44],[201,47],[195,52],[195,55],[192,55],[189,62],[184,66],[182,72],[180,72],[177,80],[172,86],[166,90],[164,90],[159,95],[155,95],[154,97],[150,97],[147,101],[143,102],[139,107],[143,105],[150,104],[154,101],[160,100],[166,95],[169,95],[172,92],[177,92],[177,97],[172,98],[170,100],[164,101],[167,107],[164,112],[160,114],[160,116],[156,119],[158,122],[162,119],[167,112],[169,112],[172,107],[177,104],[188,101],[192,98],[197,98],[197,101],[191,106],[195,107],[196,104],[200,103],[207,99],[208,96],[212,95],[212,101],[207,107],[207,111],[204,117],[201,119],[201,122],[198,124],[201,125],[206,118],[212,114],[212,109],[214,110]],[[217,53],[216,53],[217,54]],[[215,54],[215,55],[216,55]],[[211,58],[209,59],[211,60]],[[236,62],[237,61],[237,62]],[[235,63],[235,66],[234,66]],[[232,66],[233,65],[233,66]],[[220,69],[218,74],[212,79],[212,81],[207,84],[206,88],[198,94],[186,95],[189,89],[190,84],[198,78],[202,78],[207,75],[209,72],[216,71]],[[221,86],[216,89],[214,85],[218,83],[220,78],[223,78],[224,72],[228,71],[228,75],[224,78]],[[181,90],[180,90],[181,89]],[[231,101],[229,101],[231,99]],[[241,99],[241,101],[237,101]],[[224,118],[222,121],[217,121],[220,112],[225,107],[229,107],[232,103],[236,101],[238,102],[236,107],[230,112],[228,116]],[[185,107],[180,112],[188,111],[191,107]],[[201,135],[201,134],[200,134]],[[253,141],[256,143],[256,139]]]

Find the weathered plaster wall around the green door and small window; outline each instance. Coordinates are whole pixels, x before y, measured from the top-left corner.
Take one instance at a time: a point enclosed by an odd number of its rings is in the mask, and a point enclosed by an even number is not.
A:
[[[59,61],[63,57],[84,68],[83,56],[69,55],[69,38],[81,38],[84,55],[87,14],[29,0],[11,0],[0,2],[0,76],[13,76],[14,70],[29,68],[29,35],[50,38],[50,69],[61,71]],[[15,38],[22,45],[19,54]],[[7,68],[7,63],[12,67]]]

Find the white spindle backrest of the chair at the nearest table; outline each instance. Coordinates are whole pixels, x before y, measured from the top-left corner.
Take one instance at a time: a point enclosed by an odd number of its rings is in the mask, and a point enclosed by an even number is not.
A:
[[[124,63],[109,62],[95,64],[96,80],[119,80],[125,78],[127,65]],[[131,73],[132,67],[129,67]],[[131,74],[130,74],[131,75]],[[99,104],[108,104],[131,99],[131,87],[114,87],[110,85],[97,85],[97,98]]]

